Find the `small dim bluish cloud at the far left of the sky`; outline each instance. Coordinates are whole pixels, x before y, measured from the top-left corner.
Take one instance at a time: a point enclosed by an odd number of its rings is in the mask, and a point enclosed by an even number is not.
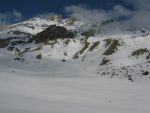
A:
[[[23,15],[15,9],[12,12],[0,12],[0,24],[15,23],[21,21],[22,19]]]

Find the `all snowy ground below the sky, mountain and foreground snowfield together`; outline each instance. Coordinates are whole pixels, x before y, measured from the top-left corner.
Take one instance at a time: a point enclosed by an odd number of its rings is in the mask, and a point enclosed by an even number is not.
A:
[[[0,112],[149,113],[149,31],[87,26],[55,17],[0,28]]]

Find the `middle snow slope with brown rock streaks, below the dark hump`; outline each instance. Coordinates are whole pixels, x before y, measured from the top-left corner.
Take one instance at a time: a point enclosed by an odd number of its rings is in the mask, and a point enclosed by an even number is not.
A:
[[[19,44],[7,54],[1,54],[29,65],[42,64],[44,59],[80,62],[84,68],[87,65],[95,68],[94,74],[133,81],[139,76],[149,77],[149,37],[57,39],[47,45]]]

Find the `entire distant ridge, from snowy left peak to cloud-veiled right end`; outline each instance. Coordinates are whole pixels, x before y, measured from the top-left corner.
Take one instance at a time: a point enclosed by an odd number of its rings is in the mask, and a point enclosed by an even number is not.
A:
[[[150,32],[150,29],[146,27],[127,25],[127,27],[120,28],[119,26],[122,26],[122,24],[114,21],[99,26],[99,24],[86,24],[75,18],[63,19],[59,15],[54,15],[46,19],[34,17],[24,22],[5,27],[2,26],[0,27],[0,38],[33,36],[44,31],[51,25],[62,26],[68,30],[72,30],[77,33],[78,37],[80,37],[82,33],[86,35],[92,33],[97,36],[129,35],[130,37],[135,37],[146,35]]]

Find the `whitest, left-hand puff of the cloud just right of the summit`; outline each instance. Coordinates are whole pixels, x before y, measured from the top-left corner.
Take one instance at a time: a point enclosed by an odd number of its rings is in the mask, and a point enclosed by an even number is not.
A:
[[[102,23],[104,20],[107,20],[109,16],[106,11],[98,9],[90,9],[85,5],[79,6],[67,6],[65,8],[66,12],[69,13],[71,17],[77,18],[85,23]]]

